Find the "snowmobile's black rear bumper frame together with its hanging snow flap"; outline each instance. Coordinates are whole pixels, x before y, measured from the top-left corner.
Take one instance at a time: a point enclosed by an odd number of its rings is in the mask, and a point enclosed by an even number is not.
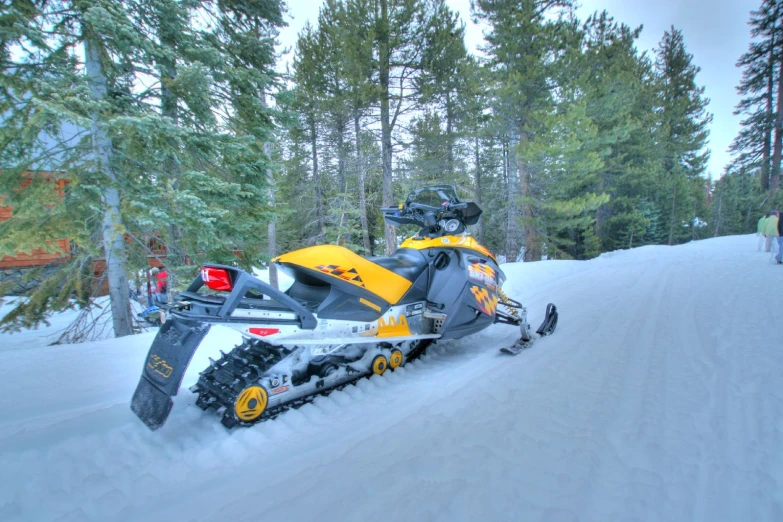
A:
[[[280,323],[295,322],[306,330],[313,330],[318,324],[315,316],[299,302],[271,285],[234,267],[209,266],[226,270],[231,275],[233,288],[227,297],[198,294],[204,281],[200,276],[197,277],[187,291],[180,295],[179,302],[158,330],[131,400],[131,410],[151,430],[160,428],[166,422],[174,406],[172,397],[177,395],[190,360],[212,324],[238,322],[231,317],[231,313],[248,292],[268,295],[287,308],[287,311],[296,314],[296,320],[280,319]],[[242,319],[242,322],[247,321]]]

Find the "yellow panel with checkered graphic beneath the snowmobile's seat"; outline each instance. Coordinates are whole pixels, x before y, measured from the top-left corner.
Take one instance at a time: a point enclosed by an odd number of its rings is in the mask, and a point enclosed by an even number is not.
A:
[[[363,288],[389,304],[397,304],[412,283],[345,247],[318,245],[294,250],[272,260],[281,267],[304,268],[316,277],[330,281],[339,279]]]

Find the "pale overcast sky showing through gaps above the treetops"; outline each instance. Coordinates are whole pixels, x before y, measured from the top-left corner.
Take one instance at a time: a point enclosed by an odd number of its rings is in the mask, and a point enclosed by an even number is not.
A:
[[[280,32],[282,46],[293,47],[307,20],[315,24],[322,0],[288,0],[288,27]],[[476,49],[483,41],[482,27],[470,21],[470,0],[447,0],[466,24],[466,45]],[[731,160],[729,145],[739,132],[740,116],[733,114],[740,100],[736,91],[742,71],[735,64],[750,44],[750,11],[761,0],[582,0],[577,13],[581,20],[595,11],[606,10],[632,28],[644,26],[638,40],[641,51],[652,51],[664,31],[674,26],[683,33],[693,63],[701,68],[698,85],[712,113],[708,147],[712,151],[708,173],[720,177]]]

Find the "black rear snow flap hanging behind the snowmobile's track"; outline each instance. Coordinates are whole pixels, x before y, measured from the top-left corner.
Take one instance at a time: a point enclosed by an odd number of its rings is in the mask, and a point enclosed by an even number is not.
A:
[[[151,430],[166,422],[174,405],[171,398],[177,394],[190,359],[210,326],[209,323],[174,316],[160,327],[131,400],[131,410]]]

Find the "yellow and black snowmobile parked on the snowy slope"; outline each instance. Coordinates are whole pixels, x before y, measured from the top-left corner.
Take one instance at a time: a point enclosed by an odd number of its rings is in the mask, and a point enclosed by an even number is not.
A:
[[[196,404],[227,428],[274,418],[360,378],[420,357],[434,341],[457,339],[494,323],[520,328],[516,348],[535,334],[526,310],[507,297],[503,271],[468,233],[481,209],[450,185],[413,190],[382,208],[394,226],[416,225],[388,257],[361,257],[336,245],[272,260],[294,282],[280,291],[235,267],[205,265],[168,311],[144,363],[131,409],[152,430],[173,406],[193,353],[212,325],[244,341],[199,375]],[[547,307],[538,335],[552,333]]]

